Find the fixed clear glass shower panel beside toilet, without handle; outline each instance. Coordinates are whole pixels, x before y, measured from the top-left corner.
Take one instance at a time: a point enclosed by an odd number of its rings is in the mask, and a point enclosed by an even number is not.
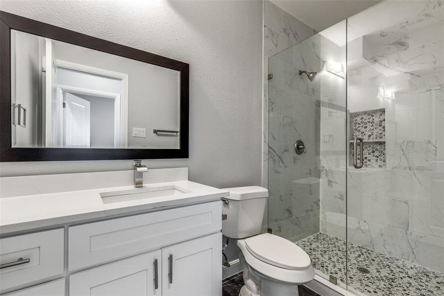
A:
[[[345,287],[346,23],[269,58],[268,227]]]

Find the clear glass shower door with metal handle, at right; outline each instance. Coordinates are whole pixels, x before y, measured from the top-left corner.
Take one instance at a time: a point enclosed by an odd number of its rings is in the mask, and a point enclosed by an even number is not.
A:
[[[362,294],[444,295],[443,22],[436,1],[348,19],[347,284]]]

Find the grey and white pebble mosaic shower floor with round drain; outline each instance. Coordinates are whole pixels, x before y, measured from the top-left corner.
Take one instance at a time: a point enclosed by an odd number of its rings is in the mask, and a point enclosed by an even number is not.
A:
[[[313,267],[346,282],[348,289],[367,296],[444,296],[444,273],[389,257],[376,251],[316,233],[296,242],[311,258]],[[346,250],[347,249],[347,250]],[[359,267],[367,268],[363,273]]]

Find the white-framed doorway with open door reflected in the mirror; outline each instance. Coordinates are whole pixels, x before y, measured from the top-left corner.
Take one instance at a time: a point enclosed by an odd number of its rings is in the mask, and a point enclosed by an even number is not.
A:
[[[46,147],[127,147],[128,75],[55,59],[46,45]]]

